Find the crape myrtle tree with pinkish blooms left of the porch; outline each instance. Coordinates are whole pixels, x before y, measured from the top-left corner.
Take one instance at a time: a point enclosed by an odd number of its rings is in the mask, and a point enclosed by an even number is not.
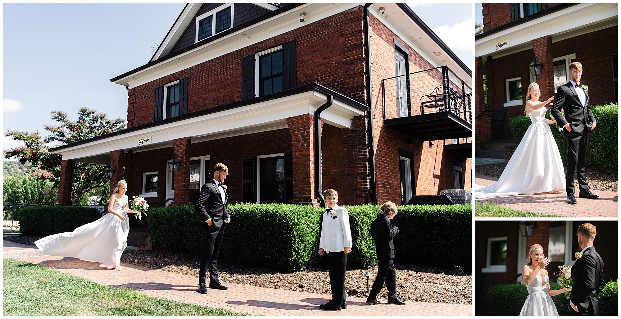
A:
[[[109,119],[106,114],[86,107],[78,110],[78,119],[75,121],[70,120],[63,111],[53,111],[52,120],[55,120],[57,125],[45,125],[45,130],[50,132],[45,138],[41,137],[38,131],[34,133],[8,131],[7,137],[24,142],[25,145],[5,151],[4,156],[15,158],[22,164],[29,164],[31,178],[50,179],[56,187],[60,183],[62,158],[60,155],[50,154],[48,150],[51,147],[99,137],[125,128],[125,120]],[[106,166],[99,164],[76,163],[73,171],[72,205],[76,205],[84,194],[92,191],[99,194],[97,189],[108,184],[104,168]],[[109,188],[106,186],[106,189]]]

